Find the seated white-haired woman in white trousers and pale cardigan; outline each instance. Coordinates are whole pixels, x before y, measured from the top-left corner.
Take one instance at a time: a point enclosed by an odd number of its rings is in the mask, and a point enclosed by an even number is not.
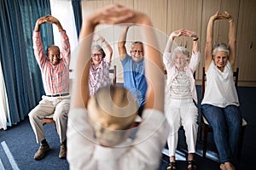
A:
[[[172,51],[174,38],[181,36],[193,39],[190,61],[187,48],[177,47]],[[199,65],[200,59],[198,37],[194,31],[181,29],[171,33],[164,54],[164,64],[167,71],[165,112],[171,127],[171,133],[167,140],[170,154],[170,163],[167,167],[169,170],[177,169],[175,151],[178,139],[177,131],[181,125],[185,130],[189,150],[188,169],[196,169],[194,154],[198,129],[198,111],[194,103],[194,101],[197,103],[197,95],[193,74]]]

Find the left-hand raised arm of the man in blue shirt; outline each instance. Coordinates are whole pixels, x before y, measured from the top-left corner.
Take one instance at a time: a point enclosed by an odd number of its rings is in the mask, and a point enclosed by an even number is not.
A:
[[[126,48],[125,48],[125,43],[126,43],[126,37],[127,37],[127,31],[129,29],[129,26],[125,26],[124,31],[119,37],[119,43],[118,43],[118,48],[119,48],[119,57],[120,60],[124,60],[127,54]]]

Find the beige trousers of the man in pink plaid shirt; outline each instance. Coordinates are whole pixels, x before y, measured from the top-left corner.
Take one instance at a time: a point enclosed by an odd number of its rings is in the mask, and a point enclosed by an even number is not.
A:
[[[56,130],[62,143],[67,139],[67,114],[70,105],[70,95],[61,97],[43,96],[39,104],[28,114],[37,143],[45,139],[42,119],[54,113]]]

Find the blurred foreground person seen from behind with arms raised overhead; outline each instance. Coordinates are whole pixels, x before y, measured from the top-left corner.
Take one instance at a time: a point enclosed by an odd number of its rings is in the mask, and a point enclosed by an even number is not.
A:
[[[125,88],[118,86],[100,88],[91,98],[88,90],[88,51],[95,27],[99,24],[121,23],[140,25],[143,40],[145,44],[149,44],[144,47],[145,77],[148,82],[145,114],[137,131],[140,139],[136,136],[134,142],[129,144],[124,144],[124,141],[129,136],[127,129],[131,129],[137,116],[137,102],[134,97]],[[67,161],[71,169],[159,167],[161,150],[166,144],[168,124],[164,116],[163,63],[151,26],[146,14],[118,4],[101,8],[84,18],[79,36],[79,56],[74,71],[67,128]],[[104,153],[108,150],[108,154],[99,154],[99,150],[104,150]],[[119,153],[122,155],[118,156]]]

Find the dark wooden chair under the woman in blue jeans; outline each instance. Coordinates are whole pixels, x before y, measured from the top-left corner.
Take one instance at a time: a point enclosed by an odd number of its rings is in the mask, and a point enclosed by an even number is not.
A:
[[[237,88],[237,82],[238,82],[238,74],[239,74],[239,68],[236,68],[236,71],[234,71],[233,77],[234,77],[234,82],[235,86]],[[205,72],[205,67],[203,67],[203,73],[202,73],[202,83],[201,83],[201,99],[203,99],[204,94],[205,94],[205,88],[206,88],[206,72]],[[241,148],[242,148],[242,142],[244,139],[244,133],[245,133],[245,128],[247,127],[247,122],[242,119],[242,128],[241,128],[241,136],[238,142],[238,147],[236,150],[236,156],[238,158],[241,157]],[[207,119],[205,116],[203,116],[202,111],[201,111],[201,122],[200,122],[200,127],[199,127],[199,139],[201,140],[201,133],[204,133],[204,139],[203,139],[203,157],[206,157],[207,155],[207,143],[208,143],[208,133],[212,133],[212,127],[209,125],[207,122]]]

